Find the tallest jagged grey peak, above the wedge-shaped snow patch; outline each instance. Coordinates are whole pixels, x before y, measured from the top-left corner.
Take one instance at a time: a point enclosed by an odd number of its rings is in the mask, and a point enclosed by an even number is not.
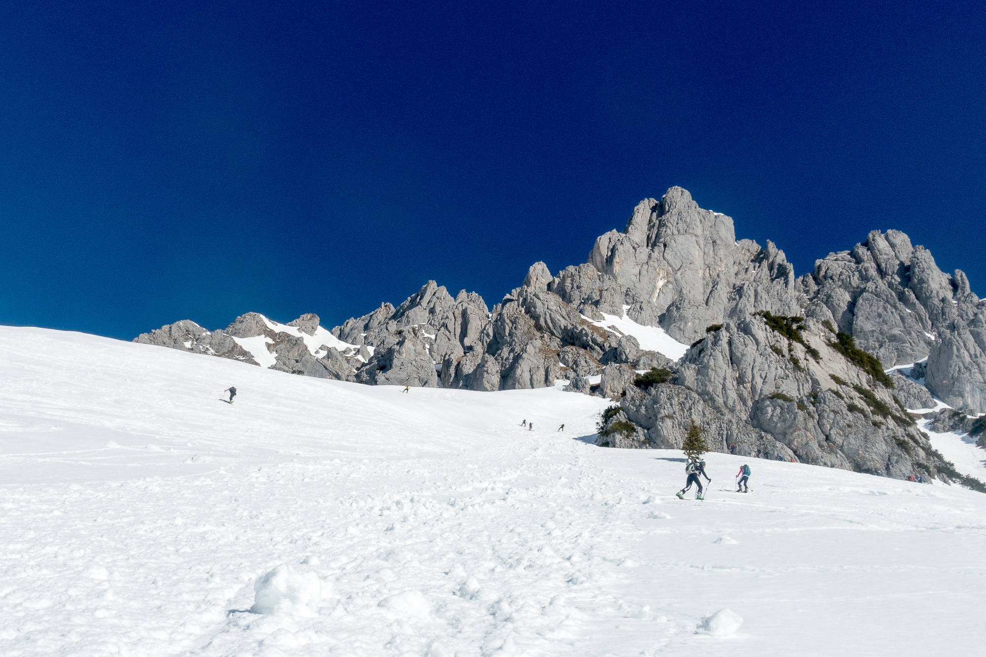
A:
[[[685,343],[729,317],[798,309],[794,268],[784,252],[771,242],[765,250],[737,242],[730,217],[703,210],[681,187],[660,201],[641,201],[622,232],[599,237],[589,264],[601,279],[569,267],[555,283],[559,295],[609,314],[630,306],[635,321]]]

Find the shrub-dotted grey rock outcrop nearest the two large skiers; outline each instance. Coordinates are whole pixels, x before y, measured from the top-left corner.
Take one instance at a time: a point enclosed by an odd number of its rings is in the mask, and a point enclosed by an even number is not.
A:
[[[630,387],[622,406],[655,447],[679,446],[694,418],[717,451],[897,478],[936,474],[938,458],[893,390],[832,348],[821,323],[801,326],[796,341],[758,316],[727,322],[677,363],[676,385]],[[901,392],[921,397],[912,385]]]

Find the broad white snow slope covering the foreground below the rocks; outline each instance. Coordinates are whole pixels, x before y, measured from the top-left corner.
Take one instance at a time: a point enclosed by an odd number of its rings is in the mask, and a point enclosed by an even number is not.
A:
[[[986,495],[958,486],[709,454],[681,501],[680,452],[593,444],[599,398],[41,328],[0,354],[3,655],[981,649]]]

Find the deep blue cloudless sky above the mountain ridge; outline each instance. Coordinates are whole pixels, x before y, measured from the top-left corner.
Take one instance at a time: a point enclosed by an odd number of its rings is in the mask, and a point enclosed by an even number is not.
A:
[[[672,184],[986,292],[981,2],[0,4],[0,323],[489,305]]]

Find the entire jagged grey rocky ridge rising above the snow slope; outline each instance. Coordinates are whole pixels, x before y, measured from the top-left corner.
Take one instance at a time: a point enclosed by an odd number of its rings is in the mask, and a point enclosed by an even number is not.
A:
[[[906,476],[934,474],[938,457],[904,407],[934,395],[986,410],[984,312],[963,272],[942,272],[899,231],[873,231],[796,278],[773,243],[738,241],[730,217],[671,187],[600,236],[587,262],[557,275],[536,262],[492,309],[428,281],[331,331],[314,315],[278,325],[250,313],[222,331],[186,320],[136,340],[370,385],[567,380],[620,402],[600,444],[676,447],[694,418],[717,450]],[[883,368],[915,363],[910,378],[880,382]],[[651,368],[669,382],[636,386]]]

